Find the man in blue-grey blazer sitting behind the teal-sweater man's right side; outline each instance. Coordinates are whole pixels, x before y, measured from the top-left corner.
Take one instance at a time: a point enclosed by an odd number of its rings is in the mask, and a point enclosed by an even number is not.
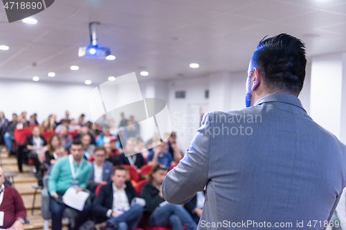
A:
[[[88,135],[86,135],[89,137]],[[88,189],[95,191],[98,184],[107,184],[111,182],[111,171],[113,164],[106,161],[106,149],[97,146],[93,151],[93,170],[89,179]]]

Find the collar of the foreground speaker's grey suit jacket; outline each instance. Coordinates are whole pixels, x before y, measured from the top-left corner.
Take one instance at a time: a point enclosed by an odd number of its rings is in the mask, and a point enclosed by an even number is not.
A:
[[[271,93],[268,94],[261,99],[259,99],[254,106],[263,104],[263,103],[268,103],[268,102],[282,102],[286,104],[291,104],[293,106],[297,106],[298,108],[301,108],[303,111],[305,109],[302,106],[302,102],[300,102],[300,99],[298,97],[295,97],[293,95],[290,95],[288,93]],[[307,113],[307,111],[305,111]]]

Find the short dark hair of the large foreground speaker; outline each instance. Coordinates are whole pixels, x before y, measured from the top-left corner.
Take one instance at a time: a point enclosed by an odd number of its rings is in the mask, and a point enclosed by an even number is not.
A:
[[[305,45],[296,37],[280,34],[262,39],[253,53],[255,67],[269,91],[300,93],[305,79]]]

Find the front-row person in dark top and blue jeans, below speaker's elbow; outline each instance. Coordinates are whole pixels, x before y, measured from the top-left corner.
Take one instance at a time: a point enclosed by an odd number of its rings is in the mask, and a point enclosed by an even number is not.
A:
[[[170,204],[162,197],[162,182],[168,173],[165,164],[152,167],[149,182],[143,186],[141,196],[146,202],[146,218],[150,227],[171,227],[173,230],[197,229],[197,224],[191,215],[181,205]]]

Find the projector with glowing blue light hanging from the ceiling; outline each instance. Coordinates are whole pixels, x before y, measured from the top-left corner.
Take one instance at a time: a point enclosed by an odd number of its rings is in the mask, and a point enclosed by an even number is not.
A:
[[[96,26],[99,24],[100,23],[97,21],[89,23],[90,45],[80,47],[78,49],[78,57],[105,59],[107,56],[111,55],[111,50],[109,50],[109,48],[99,47],[97,44]]]

